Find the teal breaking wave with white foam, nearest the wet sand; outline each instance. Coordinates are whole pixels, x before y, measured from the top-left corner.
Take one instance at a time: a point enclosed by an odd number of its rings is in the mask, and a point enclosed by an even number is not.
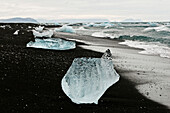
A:
[[[170,58],[170,38],[118,34],[111,35],[103,32],[95,32],[92,36],[125,40],[125,42],[121,42],[120,44],[144,49],[144,51],[139,52],[141,54],[159,55],[160,57]]]

